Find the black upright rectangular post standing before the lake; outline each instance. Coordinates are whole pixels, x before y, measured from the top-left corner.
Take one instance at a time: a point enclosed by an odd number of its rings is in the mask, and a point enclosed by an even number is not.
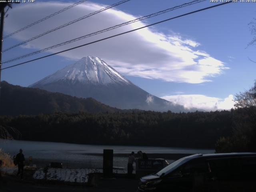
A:
[[[103,150],[103,176],[105,178],[112,177],[113,174],[113,150]]]

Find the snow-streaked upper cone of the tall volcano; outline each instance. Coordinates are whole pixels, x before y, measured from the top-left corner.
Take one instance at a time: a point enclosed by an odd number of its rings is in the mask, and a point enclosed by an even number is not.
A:
[[[114,68],[102,59],[93,56],[84,57],[35,84],[48,84],[60,80],[72,83],[82,82],[85,84],[130,84],[130,81],[119,74]]]

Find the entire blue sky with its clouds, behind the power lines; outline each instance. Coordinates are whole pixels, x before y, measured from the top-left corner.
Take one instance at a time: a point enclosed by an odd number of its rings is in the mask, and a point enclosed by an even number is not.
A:
[[[80,5],[71,8],[14,35],[12,38],[5,39],[4,49],[116,2],[114,0],[87,1],[83,4],[87,4],[87,6]],[[130,18],[138,18],[186,2],[189,1],[131,0],[117,6],[112,12],[102,12],[73,26],[63,28],[24,46],[4,52],[3,60],[76,38],[104,27],[113,26],[130,20]],[[72,3],[38,0],[34,3],[15,5],[12,10],[9,10],[9,15],[5,19],[4,35],[69,4]],[[180,8],[144,20],[143,23],[125,26],[116,31],[113,30],[106,34],[54,49],[52,52],[214,4],[216,3],[205,1]],[[105,60],[126,78],[150,94],[184,104],[188,108],[227,109],[232,104],[232,96],[248,89],[256,79],[256,64],[248,59],[249,57],[256,60],[255,47],[249,46],[246,48],[248,42],[253,38],[250,35],[248,24],[256,15],[255,5],[256,3],[231,3],[177,18],[150,27],[148,30],[126,34],[86,48],[79,48],[73,52],[3,70],[2,80],[11,84],[28,86],[64,66],[74,63],[83,56],[93,54],[93,56]],[[166,44],[162,43],[164,41],[166,41]],[[207,60],[204,62],[202,60],[201,64],[200,62],[189,64],[189,62],[194,61],[197,52],[200,52],[200,57],[204,57],[202,55],[206,54]],[[30,58],[43,56],[47,53],[50,52]],[[200,58],[196,59],[200,60]],[[18,61],[11,64],[17,63]],[[3,64],[4,66],[9,65]]]

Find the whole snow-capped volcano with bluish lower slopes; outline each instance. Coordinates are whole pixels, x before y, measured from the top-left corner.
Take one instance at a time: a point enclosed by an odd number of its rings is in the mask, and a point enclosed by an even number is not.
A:
[[[184,112],[183,106],[158,98],[134,85],[98,57],[84,57],[30,85],[50,92],[92,97],[120,109]]]

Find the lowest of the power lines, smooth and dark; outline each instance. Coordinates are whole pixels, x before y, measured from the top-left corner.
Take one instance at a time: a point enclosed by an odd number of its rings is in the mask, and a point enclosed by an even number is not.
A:
[[[107,40],[107,39],[110,39],[110,38],[113,38],[113,37],[116,37],[116,36],[120,36],[120,35],[123,35],[123,34],[126,34],[126,33],[130,33],[130,32],[136,31],[136,30],[140,30],[140,29],[143,29],[143,28],[146,28],[146,27],[150,27],[150,26],[153,26],[153,25],[156,25],[156,24],[160,24],[162,22],[173,20],[173,19],[176,19],[176,18],[179,18],[179,17],[183,17],[183,16],[186,16],[186,15],[189,15],[189,14],[194,14],[196,12],[200,12],[200,11],[207,10],[207,9],[210,9],[210,8],[214,8],[214,7],[217,7],[217,6],[222,6],[224,4],[228,4],[228,3],[231,3],[231,2],[232,1],[224,2],[224,3],[221,3],[221,4],[214,5],[214,6],[209,6],[209,7],[206,7],[206,8],[202,8],[202,9],[199,9],[199,10],[196,10],[196,11],[192,11],[192,12],[189,12],[189,13],[186,13],[186,14],[182,14],[182,15],[179,15],[179,16],[176,16],[176,17],[172,17],[172,18],[169,18],[169,19],[166,19],[166,20],[162,20],[162,21],[150,24],[150,25],[146,25],[146,26],[143,26],[143,27],[140,27],[140,28],[136,28],[136,29],[133,29],[133,30],[130,30],[130,31],[119,33],[119,34],[116,34],[116,35],[113,35],[113,36],[109,36],[109,37],[106,37],[106,38],[103,38],[103,39],[100,39],[100,40],[96,40],[96,41],[93,41],[93,42],[90,42],[90,43],[86,43],[86,44],[83,44],[83,45],[80,45],[80,46],[69,48],[69,49],[66,49],[66,50],[63,50],[63,51],[60,51],[60,52],[56,52],[56,53],[53,53],[53,54],[42,56],[40,58],[32,59],[32,60],[29,60],[29,61],[26,61],[26,62],[15,64],[15,65],[12,65],[12,66],[9,66],[9,67],[5,67],[5,68],[2,68],[1,70],[12,68],[12,67],[15,67],[15,66],[19,66],[19,65],[22,65],[22,64],[25,64],[25,63],[28,63],[28,62],[36,61],[36,60],[39,60],[39,59],[42,59],[42,58],[53,56],[53,55],[56,55],[56,54],[59,54],[59,53],[63,53],[63,52],[66,52],[66,51],[70,51],[70,50],[73,50],[73,49],[76,49],[76,48],[80,48],[80,47],[83,47],[83,46],[87,46],[87,45],[90,45],[90,44],[93,44],[93,43],[96,43],[96,42]]]

